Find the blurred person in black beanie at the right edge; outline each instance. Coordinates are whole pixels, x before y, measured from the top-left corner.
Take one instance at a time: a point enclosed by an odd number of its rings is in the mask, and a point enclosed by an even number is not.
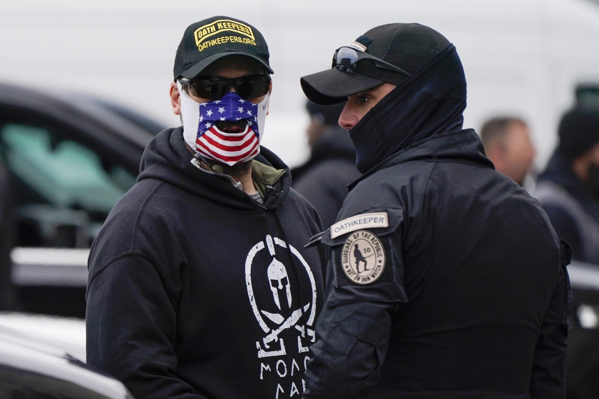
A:
[[[564,114],[535,196],[572,246],[572,258],[599,264],[599,108],[576,106]]]

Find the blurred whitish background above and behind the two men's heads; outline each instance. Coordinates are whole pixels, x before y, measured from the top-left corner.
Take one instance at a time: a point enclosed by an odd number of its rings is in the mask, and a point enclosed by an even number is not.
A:
[[[265,36],[273,96],[263,144],[290,164],[307,156],[299,77],[330,68],[335,48],[370,28],[420,22],[456,45],[468,81],[465,127],[518,114],[540,162],[577,80],[599,80],[599,7],[587,0],[4,1],[0,80],[95,93],[173,126],[168,86],[184,29],[214,15]]]

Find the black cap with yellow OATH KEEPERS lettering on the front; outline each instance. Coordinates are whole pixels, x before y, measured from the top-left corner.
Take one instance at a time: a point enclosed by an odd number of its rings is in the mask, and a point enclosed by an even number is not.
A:
[[[245,56],[268,72],[268,45],[258,29],[231,17],[216,16],[187,26],[175,56],[174,78],[193,79],[204,68],[224,57]]]

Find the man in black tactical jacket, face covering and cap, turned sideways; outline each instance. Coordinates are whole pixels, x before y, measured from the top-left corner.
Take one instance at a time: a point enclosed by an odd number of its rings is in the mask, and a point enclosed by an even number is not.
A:
[[[347,100],[365,173],[311,240],[331,261],[303,398],[565,398],[570,247],[462,129],[455,47],[377,26],[301,84]]]

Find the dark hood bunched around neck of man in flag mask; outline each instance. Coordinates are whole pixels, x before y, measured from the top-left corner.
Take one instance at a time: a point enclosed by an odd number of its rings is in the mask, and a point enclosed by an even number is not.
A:
[[[140,175],[137,181],[158,179],[213,202],[243,211],[256,211],[262,208],[249,195],[234,187],[225,178],[199,170],[192,165],[192,159],[193,156],[183,141],[183,127],[163,130],[147,145],[141,157]],[[264,147],[260,148],[260,154],[255,160],[286,171],[274,184],[273,193],[264,199],[263,207],[274,209],[289,192],[291,184],[289,168],[279,157]]]

